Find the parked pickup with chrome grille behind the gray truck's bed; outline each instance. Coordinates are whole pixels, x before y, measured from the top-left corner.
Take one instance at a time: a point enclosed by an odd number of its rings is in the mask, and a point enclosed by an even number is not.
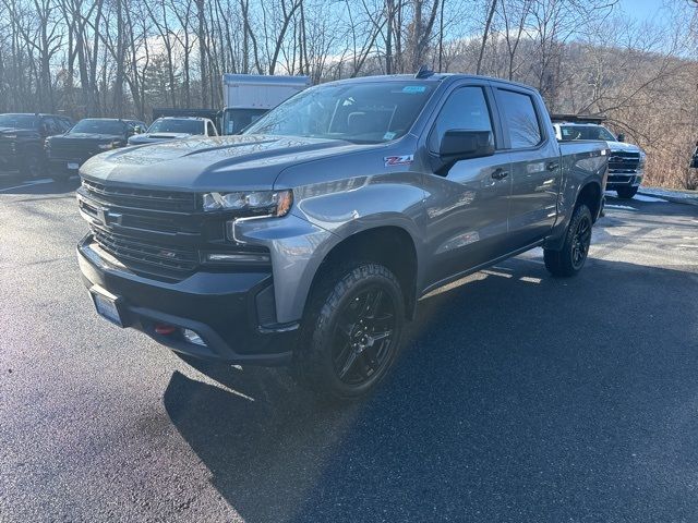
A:
[[[609,144],[611,156],[609,158],[609,182],[606,188],[615,191],[619,198],[633,198],[642,183],[645,175],[645,151],[634,144],[625,143],[625,135],[615,136],[600,123],[555,122],[555,135],[557,139],[569,142],[571,139],[603,139]]]

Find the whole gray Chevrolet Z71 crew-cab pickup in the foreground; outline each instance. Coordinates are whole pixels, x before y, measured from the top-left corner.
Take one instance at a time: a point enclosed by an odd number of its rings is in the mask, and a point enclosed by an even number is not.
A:
[[[239,136],[88,160],[79,262],[112,323],[351,399],[386,375],[420,296],[537,246],[553,275],[579,271],[606,170],[605,143],[559,144],[530,87],[352,78]]]

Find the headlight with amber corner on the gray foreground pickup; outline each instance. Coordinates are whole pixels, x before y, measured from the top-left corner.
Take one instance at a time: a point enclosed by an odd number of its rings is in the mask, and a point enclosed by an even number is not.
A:
[[[293,192],[205,193],[202,203],[206,211],[242,210],[258,216],[286,216],[293,203]]]

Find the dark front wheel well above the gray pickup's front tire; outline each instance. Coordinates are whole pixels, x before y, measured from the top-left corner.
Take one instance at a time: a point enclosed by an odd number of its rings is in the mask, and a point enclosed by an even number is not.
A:
[[[399,227],[378,227],[357,232],[335,245],[317,269],[312,295],[321,277],[337,264],[349,260],[374,262],[387,267],[400,282],[405,311],[413,317],[417,294],[417,250],[412,236]]]

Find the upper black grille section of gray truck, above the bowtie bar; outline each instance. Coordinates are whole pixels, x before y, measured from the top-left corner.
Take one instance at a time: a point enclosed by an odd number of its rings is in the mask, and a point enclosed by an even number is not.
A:
[[[83,180],[83,187],[92,198],[105,205],[171,212],[196,210],[194,193],[113,187],[88,180]]]

